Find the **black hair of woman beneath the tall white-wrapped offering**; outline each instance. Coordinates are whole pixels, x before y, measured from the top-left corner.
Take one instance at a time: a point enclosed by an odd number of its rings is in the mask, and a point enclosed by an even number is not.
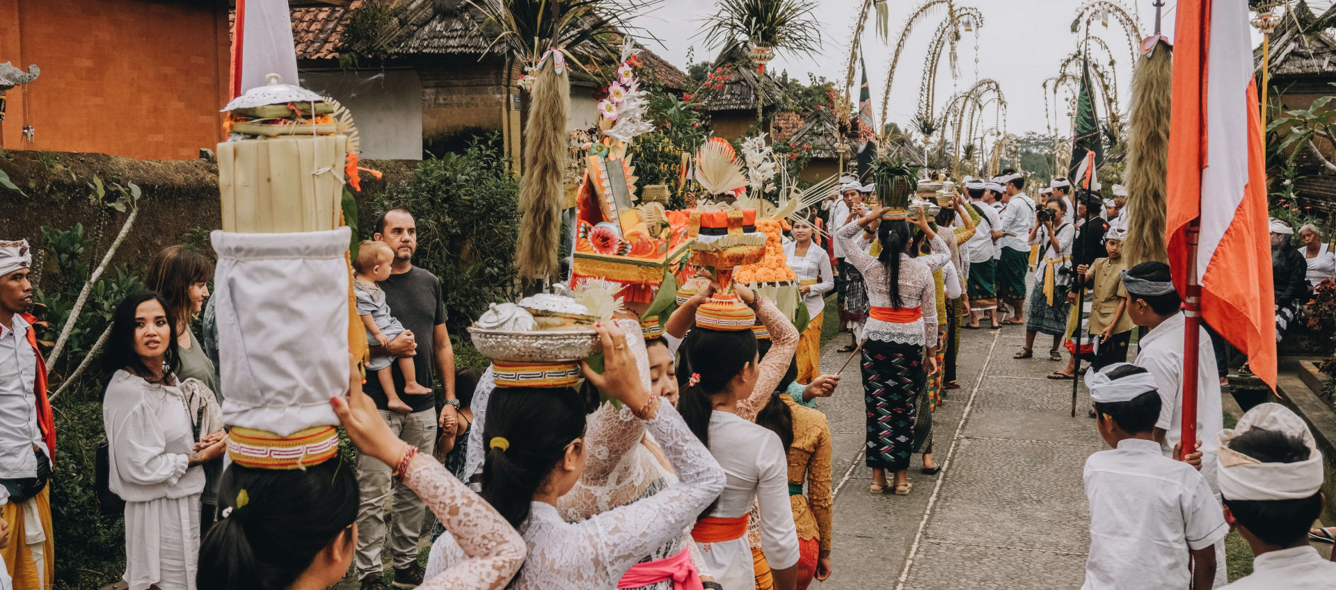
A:
[[[200,543],[199,590],[287,590],[357,521],[359,495],[334,458],[285,471],[232,463],[219,501],[230,513]]]

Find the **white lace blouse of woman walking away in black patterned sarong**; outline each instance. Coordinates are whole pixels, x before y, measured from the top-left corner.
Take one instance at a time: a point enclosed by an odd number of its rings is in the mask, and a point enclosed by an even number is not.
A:
[[[867,299],[874,307],[895,307],[891,303],[890,276],[886,266],[868,254],[867,248],[860,247],[859,234],[863,234],[863,228],[858,227],[856,223],[844,226],[835,232],[835,239],[844,243],[844,260],[863,274],[863,280],[867,283]],[[908,323],[868,318],[867,327],[863,328],[863,335],[868,340],[916,346],[937,343],[937,283],[933,280],[933,271],[951,262],[951,251],[942,242],[942,236],[934,238],[931,246],[933,254],[926,256],[910,258],[900,254],[900,307],[919,307],[923,318]]]

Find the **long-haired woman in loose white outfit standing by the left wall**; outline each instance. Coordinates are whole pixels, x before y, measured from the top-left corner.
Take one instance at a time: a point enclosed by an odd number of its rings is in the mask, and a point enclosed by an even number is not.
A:
[[[194,590],[203,463],[223,455],[222,432],[203,432],[172,374],[175,318],[140,291],[116,308],[103,354],[111,491],[126,501],[130,590]],[[203,439],[203,442],[199,442]]]

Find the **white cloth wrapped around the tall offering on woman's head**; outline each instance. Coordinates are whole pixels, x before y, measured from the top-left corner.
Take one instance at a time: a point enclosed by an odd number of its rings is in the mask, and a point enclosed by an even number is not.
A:
[[[223,422],[287,436],[337,426],[347,392],[351,230],[214,231]]]

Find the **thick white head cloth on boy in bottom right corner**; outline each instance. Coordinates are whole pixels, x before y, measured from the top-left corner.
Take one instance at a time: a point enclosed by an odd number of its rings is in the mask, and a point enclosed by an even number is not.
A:
[[[1308,459],[1297,463],[1263,463],[1229,449],[1229,442],[1253,428],[1279,430],[1304,439]],[[1226,499],[1300,499],[1323,487],[1323,454],[1303,418],[1279,403],[1253,406],[1233,428],[1216,435],[1220,459],[1220,494]]]

